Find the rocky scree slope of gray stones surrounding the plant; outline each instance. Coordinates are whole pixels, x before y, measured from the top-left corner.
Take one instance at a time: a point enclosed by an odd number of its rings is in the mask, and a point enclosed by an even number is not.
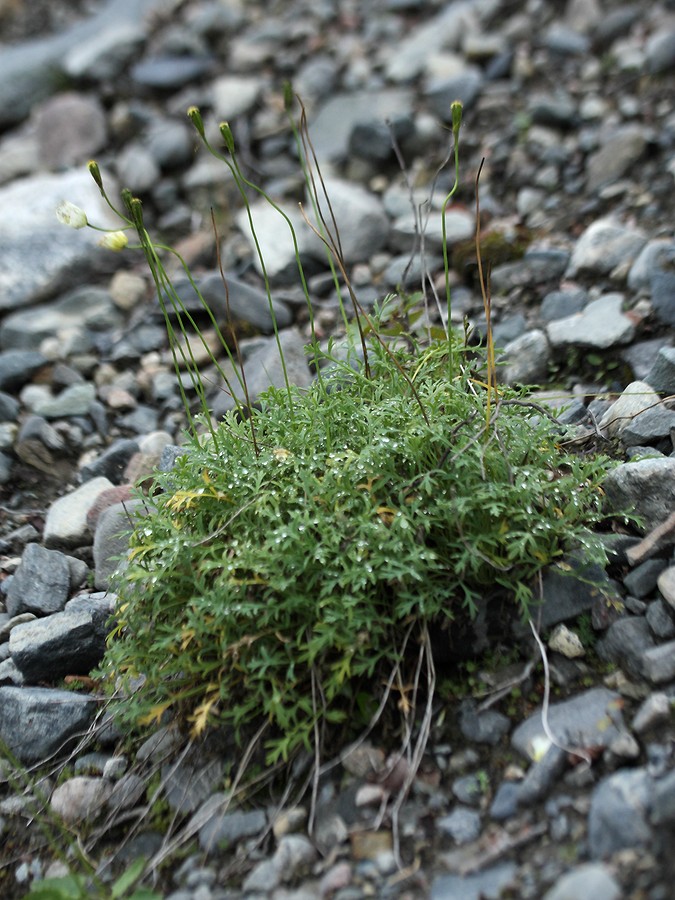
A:
[[[12,210],[0,222],[0,736],[24,765],[66,748],[72,766],[58,785],[60,764],[47,770],[32,791],[38,802],[86,826],[95,858],[116,851],[124,866],[169,839],[142,812],[159,773],[188,847],[163,876],[174,900],[670,896],[673,4],[108,0],[78,11],[90,16],[33,37],[21,30],[20,4],[8,5],[14,37],[29,40],[0,49],[0,93],[9,92],[0,103],[0,196]],[[485,157],[482,224],[502,377],[552,377],[557,396],[561,386],[568,392],[566,420],[616,443],[625,462],[606,492],[643,516],[647,535],[615,538],[612,577],[598,574],[600,590],[547,577],[541,628],[566,698],[550,722],[560,743],[592,751],[593,764],[546,744],[532,671],[516,686],[522,701],[513,691],[490,708],[448,700],[453,724],[434,734],[400,822],[406,852],[421,862],[407,877],[396,872],[388,823],[362,835],[374,817],[365,789],[379,748],[345,760],[342,780],[326,785],[311,840],[302,812],[276,816],[270,834],[267,808],[222,814],[222,747],[172,750],[168,729],[121,752],[122,736],[100,722],[94,743],[82,741],[100,700],[93,685],[64,690],[68,676],[86,679],[103,650],[130,485],[171,465],[184,421],[142,262],[131,252],[106,256],[94,235],[59,230],[53,210],[69,199],[111,223],[84,169],[96,156],[106,179],[141,196],[158,232],[180,242],[219,315],[209,208],[224,210],[230,300],[249,381],[263,389],[278,359],[259,272],[228,212],[236,207],[223,169],[196,152],[185,111],[197,103],[205,120],[229,120],[242,160],[291,209],[303,187],[280,100],[288,77],[307,103],[365,304],[418,290],[425,268],[440,272],[437,221],[450,174],[430,201],[424,265],[420,252],[409,265],[415,216],[391,133],[423,203],[447,145],[439,122],[452,100],[464,102],[462,184],[448,217],[456,324],[464,316],[484,324],[466,242]],[[278,221],[257,212],[287,362],[307,383],[291,248]],[[311,235],[303,242],[317,322],[326,338],[339,335],[325,261]],[[218,415],[228,398],[207,376]],[[575,655],[592,644],[590,662]],[[474,676],[477,688],[515,677],[501,651]],[[7,781],[0,801],[7,896],[25,894],[51,862],[25,824],[30,794]],[[120,815],[138,822],[125,839],[106,830]],[[249,866],[232,881],[224,869],[237,854]]]

